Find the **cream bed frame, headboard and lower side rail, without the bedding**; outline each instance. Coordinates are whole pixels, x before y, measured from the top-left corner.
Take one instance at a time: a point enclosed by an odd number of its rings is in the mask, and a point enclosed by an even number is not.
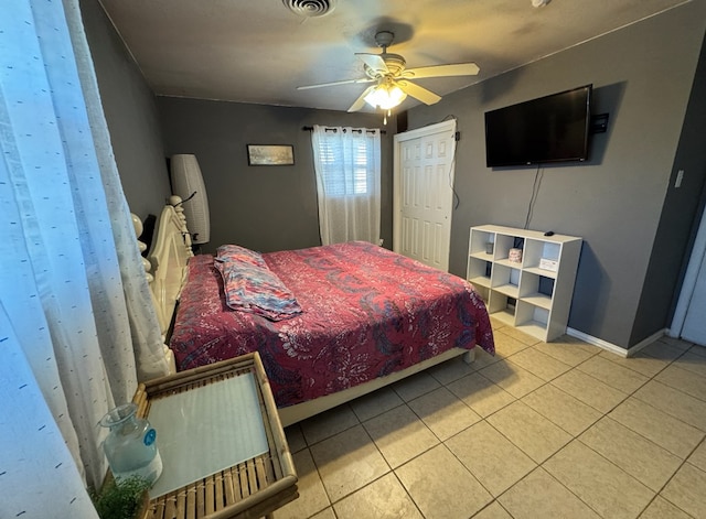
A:
[[[148,279],[150,275],[153,278],[150,281],[150,288],[152,289],[157,314],[160,318],[163,334],[169,328],[181,289],[186,281],[186,263],[189,258],[193,256],[191,251],[191,235],[186,228],[186,219],[179,205],[180,203],[181,198],[179,196],[172,196],[169,199],[169,204],[162,209],[152,240],[152,248],[148,255],[152,272],[150,274],[149,269],[147,269]],[[171,352],[169,352],[169,355],[171,355]],[[284,426],[291,425],[460,355],[463,356],[463,360],[467,364],[471,364],[475,358],[473,349],[452,348],[386,377],[315,400],[281,408],[278,410],[279,418]],[[171,361],[173,364],[173,356]]]

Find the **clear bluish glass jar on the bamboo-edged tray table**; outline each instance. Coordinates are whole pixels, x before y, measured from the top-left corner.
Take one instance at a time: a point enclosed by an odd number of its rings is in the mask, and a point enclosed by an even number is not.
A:
[[[137,406],[126,403],[109,411],[100,425],[110,432],[103,450],[116,480],[140,476],[152,485],[162,474],[162,458],[157,448],[157,431],[146,419],[137,418]]]

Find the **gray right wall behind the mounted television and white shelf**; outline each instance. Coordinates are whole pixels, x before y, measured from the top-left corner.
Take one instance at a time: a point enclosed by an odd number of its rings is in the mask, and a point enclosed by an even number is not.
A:
[[[675,155],[704,36],[705,6],[683,6],[446,96],[438,105],[409,110],[409,129],[448,115],[458,118],[456,191],[461,204],[451,227],[452,272],[464,274],[470,226],[524,226],[537,171],[485,166],[483,113],[591,83],[595,112],[610,113],[609,130],[592,139],[588,162],[543,169],[528,227],[585,239],[570,327],[629,347],[650,329],[668,325],[663,311],[649,325],[638,311],[650,304],[640,304],[643,291],[668,306],[676,290],[671,279],[652,291],[646,275],[672,173],[684,167],[694,176],[704,174],[703,156],[692,161],[686,148],[689,156],[675,162]],[[700,129],[703,136],[703,120]],[[680,192],[689,201],[689,223],[699,196],[696,184],[695,191]],[[688,233],[681,225],[668,224]],[[660,264],[681,263],[683,239],[675,241],[660,253]],[[634,332],[633,322],[639,324]]]

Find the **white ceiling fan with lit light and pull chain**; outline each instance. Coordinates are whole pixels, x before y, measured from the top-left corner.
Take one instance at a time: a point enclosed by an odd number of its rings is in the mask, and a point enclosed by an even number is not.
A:
[[[363,62],[363,69],[367,77],[360,79],[345,79],[342,82],[321,83],[297,87],[298,90],[310,88],[330,87],[336,85],[351,85],[357,83],[375,83],[367,87],[347,111],[357,111],[365,102],[377,108],[389,110],[405,100],[407,95],[420,100],[426,105],[438,102],[441,97],[424,88],[411,79],[422,79],[428,77],[445,76],[474,76],[480,68],[475,63],[457,63],[449,65],[432,65],[419,68],[405,68],[407,62],[399,54],[387,52],[395,35],[389,31],[381,31],[375,34],[375,43],[383,48],[381,54],[355,53]]]

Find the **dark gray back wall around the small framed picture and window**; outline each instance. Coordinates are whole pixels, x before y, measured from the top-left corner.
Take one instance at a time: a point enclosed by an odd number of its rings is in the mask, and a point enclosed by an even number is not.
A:
[[[370,113],[159,97],[165,154],[194,153],[208,193],[213,252],[239,244],[268,252],[321,245],[311,133],[304,126],[382,128],[382,238],[392,246],[394,130]],[[249,166],[247,144],[293,144],[292,166]]]

